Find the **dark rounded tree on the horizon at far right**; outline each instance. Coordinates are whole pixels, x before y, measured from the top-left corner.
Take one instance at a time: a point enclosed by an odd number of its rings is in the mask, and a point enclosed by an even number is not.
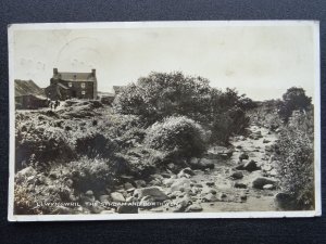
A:
[[[287,123],[293,111],[305,112],[312,105],[311,101],[303,88],[291,87],[283,94],[279,115]]]

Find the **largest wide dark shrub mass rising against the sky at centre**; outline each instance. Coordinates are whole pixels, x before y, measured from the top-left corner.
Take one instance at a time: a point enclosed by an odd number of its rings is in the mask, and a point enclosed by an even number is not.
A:
[[[205,78],[179,72],[141,77],[127,86],[113,103],[115,112],[137,115],[147,126],[170,116],[187,116],[212,130],[212,140],[223,144],[248,125],[244,111],[252,106],[252,100],[239,95],[235,89],[222,92],[211,88]]]

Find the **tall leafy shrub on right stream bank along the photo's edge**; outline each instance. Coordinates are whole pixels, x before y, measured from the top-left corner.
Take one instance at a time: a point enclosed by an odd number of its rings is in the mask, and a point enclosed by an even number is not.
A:
[[[281,187],[294,198],[294,208],[314,208],[314,142],[312,112],[297,113],[278,141]]]

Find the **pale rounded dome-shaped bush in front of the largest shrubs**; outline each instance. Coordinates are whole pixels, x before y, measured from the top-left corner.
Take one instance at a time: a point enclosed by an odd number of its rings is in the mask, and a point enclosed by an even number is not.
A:
[[[200,155],[205,150],[204,131],[199,124],[185,116],[167,117],[152,125],[145,143],[155,150],[177,150],[180,156]]]

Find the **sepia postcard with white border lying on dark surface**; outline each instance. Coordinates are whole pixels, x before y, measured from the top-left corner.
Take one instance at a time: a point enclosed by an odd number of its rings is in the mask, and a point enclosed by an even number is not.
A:
[[[319,24],[13,24],[10,221],[315,217]]]

